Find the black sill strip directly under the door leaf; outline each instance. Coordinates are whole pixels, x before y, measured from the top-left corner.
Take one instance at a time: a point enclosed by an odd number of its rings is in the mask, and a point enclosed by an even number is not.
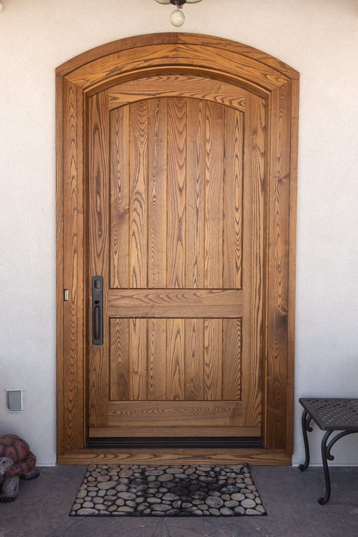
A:
[[[86,449],[263,449],[260,437],[89,438]]]

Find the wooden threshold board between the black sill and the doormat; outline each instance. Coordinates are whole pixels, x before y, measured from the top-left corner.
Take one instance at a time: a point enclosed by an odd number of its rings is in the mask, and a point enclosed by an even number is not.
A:
[[[68,449],[57,456],[59,465],[232,465],[245,462],[290,466],[291,456],[284,449]]]

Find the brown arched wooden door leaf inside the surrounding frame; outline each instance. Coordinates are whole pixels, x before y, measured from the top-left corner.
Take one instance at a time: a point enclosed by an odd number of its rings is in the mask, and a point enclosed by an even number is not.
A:
[[[88,107],[90,436],[260,436],[264,99],[173,75]]]

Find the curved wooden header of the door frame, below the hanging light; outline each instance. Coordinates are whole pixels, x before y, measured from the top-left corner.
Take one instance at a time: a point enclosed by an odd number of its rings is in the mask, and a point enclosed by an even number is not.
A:
[[[216,78],[262,97],[298,78],[296,71],[272,56],[240,43],[196,34],[177,34],[176,40],[171,34],[153,34],[114,41],[56,70],[57,76],[64,76],[86,95],[164,73]]]

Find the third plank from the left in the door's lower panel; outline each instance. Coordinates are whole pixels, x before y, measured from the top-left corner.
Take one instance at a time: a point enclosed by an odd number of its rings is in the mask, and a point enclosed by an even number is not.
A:
[[[166,398],[166,319],[148,319],[148,400]]]

